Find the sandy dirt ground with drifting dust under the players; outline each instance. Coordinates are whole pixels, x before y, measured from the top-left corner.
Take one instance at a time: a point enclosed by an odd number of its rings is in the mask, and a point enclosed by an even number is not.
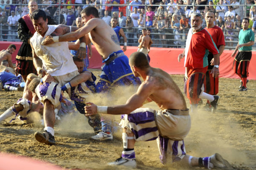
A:
[[[99,70],[93,70],[97,75]],[[183,75],[172,75],[183,91]],[[256,169],[256,81],[250,80],[248,90],[239,92],[239,79],[219,80],[221,100],[218,111],[209,113],[199,106],[192,113],[192,128],[185,138],[186,152],[192,156],[211,156],[220,153],[236,170]],[[90,99],[99,105],[114,105],[126,101],[130,89],[119,89],[112,96]],[[0,91],[0,114],[11,107],[22,92]],[[189,107],[189,102],[186,99]],[[204,101],[205,104],[206,101]],[[145,107],[157,109],[154,103]],[[38,114],[34,113],[39,120]],[[40,117],[40,116],[39,116]],[[120,116],[108,116],[119,122]],[[10,118],[11,119],[11,118]],[[116,128],[112,142],[89,140],[93,130],[85,116],[73,113],[62,118],[55,127],[55,145],[38,143],[35,131],[42,130],[40,123],[24,124],[20,120],[0,123],[0,152],[32,157],[70,169],[123,170],[106,163],[119,158],[122,152],[121,130]],[[137,168],[141,170],[184,170],[177,164],[163,165],[159,161],[156,141],[140,142],[135,146]],[[29,168],[28,168],[29,169]],[[192,168],[190,168],[192,169]]]

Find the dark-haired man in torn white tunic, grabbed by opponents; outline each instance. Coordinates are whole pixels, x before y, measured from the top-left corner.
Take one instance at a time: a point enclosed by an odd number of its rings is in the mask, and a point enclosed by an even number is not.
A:
[[[41,143],[55,144],[53,129],[55,124],[54,109],[60,104],[61,91],[67,91],[70,99],[77,102],[84,102],[84,100],[78,97],[73,98],[74,85],[71,80],[79,75],[79,72],[73,62],[67,42],[58,42],[52,45],[42,45],[42,42],[47,35],[62,35],[78,28],[65,25],[48,25],[47,16],[41,9],[37,9],[31,14],[31,20],[36,30],[30,39],[33,62],[40,77],[47,76],[44,79],[45,84],[37,91],[38,97],[41,97],[41,101],[44,103],[45,128],[43,133],[35,132],[35,139]],[[80,46],[82,47],[79,48],[78,55],[83,55],[86,51],[84,37],[80,38],[80,41]],[[81,84],[81,86],[83,89],[87,89],[86,85]],[[52,92],[53,97],[51,95]],[[82,107],[81,105],[80,107]]]

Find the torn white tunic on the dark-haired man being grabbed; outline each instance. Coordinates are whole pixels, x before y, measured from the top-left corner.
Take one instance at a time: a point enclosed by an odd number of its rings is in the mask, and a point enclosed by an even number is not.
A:
[[[55,42],[51,45],[42,45],[45,37],[52,34],[58,26],[48,25],[44,37],[35,32],[30,39],[35,54],[42,60],[43,68],[51,76],[62,76],[78,70],[73,62],[67,42]]]

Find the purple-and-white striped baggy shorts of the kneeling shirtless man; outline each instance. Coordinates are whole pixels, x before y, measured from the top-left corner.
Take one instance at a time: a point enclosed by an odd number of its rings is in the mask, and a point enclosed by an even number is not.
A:
[[[163,164],[168,156],[172,156],[172,161],[179,161],[186,155],[183,139],[191,127],[189,114],[177,116],[168,110],[138,108],[129,115],[122,115],[121,119],[119,125],[126,127],[128,133],[133,132],[137,142],[157,139]]]

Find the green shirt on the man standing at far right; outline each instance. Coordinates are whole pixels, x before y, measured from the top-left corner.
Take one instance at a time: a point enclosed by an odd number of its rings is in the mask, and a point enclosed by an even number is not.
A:
[[[254,33],[253,31],[248,28],[247,30],[243,30],[241,29],[239,32],[239,44],[244,44],[250,41],[254,42]],[[240,51],[252,51],[252,45],[251,46],[243,46],[241,48],[239,48]]]

